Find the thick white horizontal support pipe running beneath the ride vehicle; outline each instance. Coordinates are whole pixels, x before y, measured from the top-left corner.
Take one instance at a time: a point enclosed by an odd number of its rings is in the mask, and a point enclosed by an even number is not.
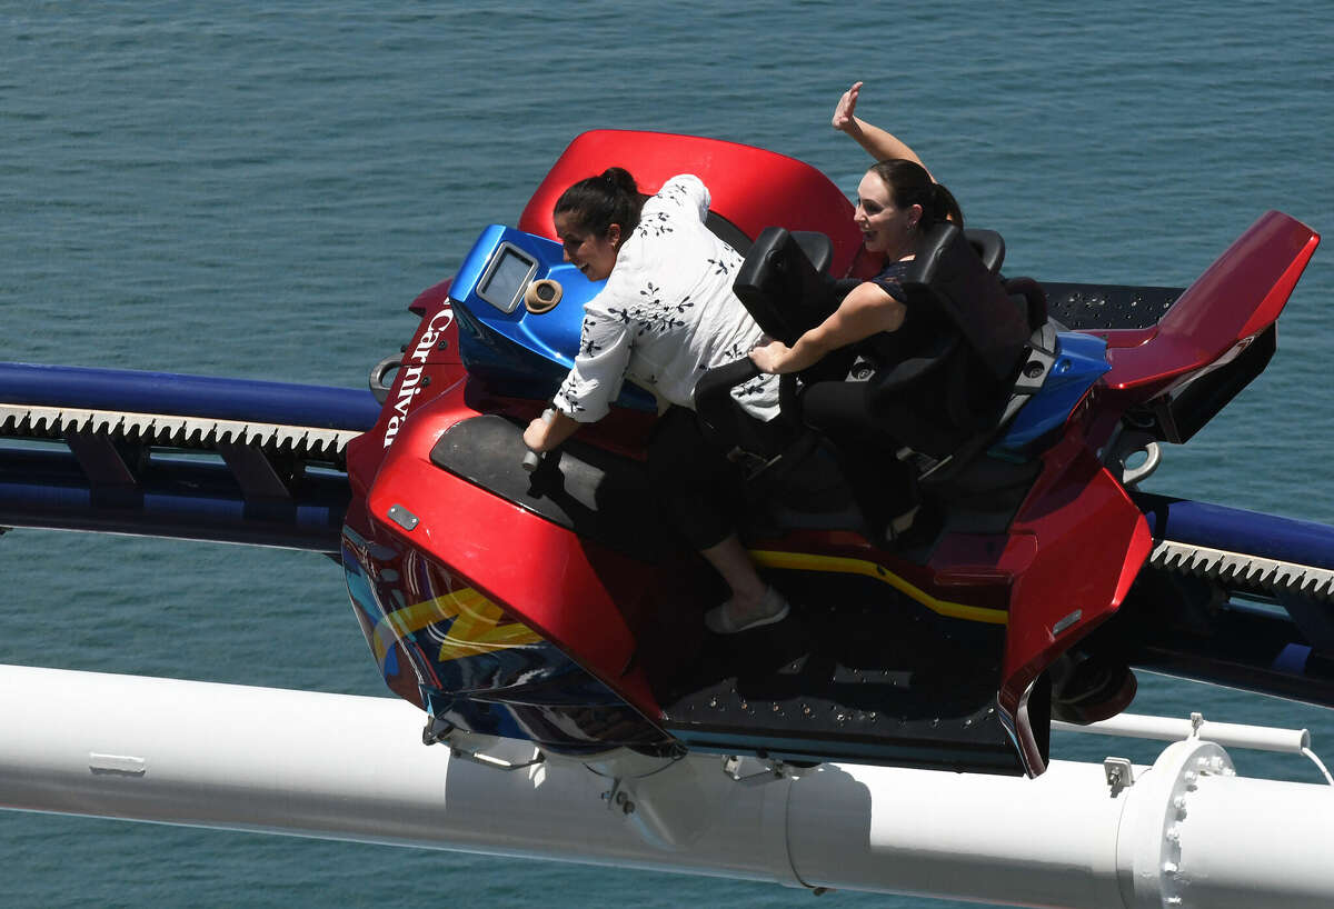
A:
[[[0,666],[0,806],[1014,905],[1334,902],[1334,788],[1237,777],[1199,740],[1114,785],[1062,761],[1038,780],[826,765],[738,782],[718,756],[499,770],[423,746],[423,718]]]

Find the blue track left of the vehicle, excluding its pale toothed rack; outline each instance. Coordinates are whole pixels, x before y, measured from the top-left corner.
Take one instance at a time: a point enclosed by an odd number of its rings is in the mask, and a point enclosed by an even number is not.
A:
[[[0,364],[0,403],[364,432],[370,391],[129,369]],[[338,553],[347,476],[231,445],[181,457],[152,443],[67,436],[0,444],[0,526],[215,540]],[[0,440],[3,441],[3,440]]]

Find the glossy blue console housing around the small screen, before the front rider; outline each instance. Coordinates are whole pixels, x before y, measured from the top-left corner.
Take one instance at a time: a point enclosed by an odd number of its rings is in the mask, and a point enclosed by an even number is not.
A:
[[[516,283],[520,292],[542,279],[560,284],[560,303],[554,309],[535,315],[520,303],[512,312],[504,312],[483,296],[488,269],[507,247],[534,260],[531,273]],[[552,396],[574,365],[583,327],[583,305],[604,284],[590,281],[566,263],[559,243],[500,224],[486,228],[450,288],[459,319],[459,353],[468,372],[502,393],[532,399]],[[492,292],[490,296],[496,295]],[[642,411],[656,409],[650,392],[628,383],[616,404]]]

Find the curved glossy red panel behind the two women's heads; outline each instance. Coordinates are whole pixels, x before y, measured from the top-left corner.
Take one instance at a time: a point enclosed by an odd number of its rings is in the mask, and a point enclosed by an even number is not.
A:
[[[843,275],[862,245],[852,205],[830,179],[796,159],[719,139],[628,129],[576,136],[538,187],[519,229],[555,239],[551,209],[571,184],[623,167],[640,192],[658,192],[678,173],[694,173],[712,197],[710,209],[754,239],[767,227],[819,231],[834,241],[831,275]]]

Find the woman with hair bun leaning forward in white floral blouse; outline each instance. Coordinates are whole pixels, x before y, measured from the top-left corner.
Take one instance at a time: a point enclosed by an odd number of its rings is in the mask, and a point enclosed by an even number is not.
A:
[[[746,356],[763,332],[732,292],[740,255],[707,227],[708,189],[679,175],[644,200],[623,168],[574,184],[556,200],[566,261],[606,287],[584,304],[579,353],[552,400],[555,413],[528,424],[523,440],[546,452],[607,415],[626,379],[667,404],[648,443],[648,469],[668,517],[727,581],[732,596],[704,622],[719,634],[788,614],[736,536],[740,477],[694,412],[695,383]],[[762,437],[778,415],[778,383],[760,376],[732,389],[734,416]]]

